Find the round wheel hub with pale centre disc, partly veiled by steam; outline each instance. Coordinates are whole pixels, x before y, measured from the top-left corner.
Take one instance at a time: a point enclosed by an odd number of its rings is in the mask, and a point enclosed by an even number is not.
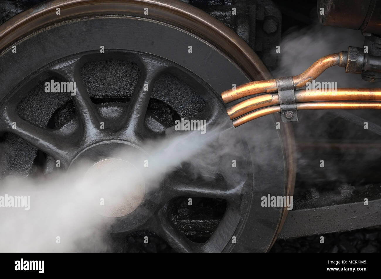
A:
[[[147,184],[143,177],[143,163],[147,158],[147,152],[128,141],[106,140],[80,151],[69,170],[85,173],[83,183],[96,196],[98,214],[118,218],[114,222],[116,230],[119,226],[130,230],[152,216],[160,202],[160,188]],[[146,212],[145,218],[133,214],[139,207]],[[128,227],[130,224],[132,228]]]

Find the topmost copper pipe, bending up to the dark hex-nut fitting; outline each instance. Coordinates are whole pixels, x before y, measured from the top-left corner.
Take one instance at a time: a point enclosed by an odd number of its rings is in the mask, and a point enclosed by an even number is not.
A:
[[[313,79],[319,77],[319,75],[329,67],[336,65],[345,67],[347,60],[346,53],[346,51],[341,51],[340,53],[333,53],[317,60],[302,74],[293,77],[294,89],[305,86],[307,82],[312,82]],[[245,83],[237,87],[235,90],[229,89],[224,91],[221,93],[221,96],[224,102],[227,104],[246,96],[256,95],[260,93],[273,93],[276,91],[278,91],[276,80],[269,79]]]

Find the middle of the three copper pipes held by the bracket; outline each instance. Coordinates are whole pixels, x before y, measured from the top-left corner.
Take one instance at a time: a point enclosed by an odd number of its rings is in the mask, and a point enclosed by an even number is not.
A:
[[[336,91],[295,91],[295,102],[313,101],[381,101],[381,88],[337,88]],[[277,93],[262,94],[227,108],[230,119],[235,119],[262,107],[279,104]]]

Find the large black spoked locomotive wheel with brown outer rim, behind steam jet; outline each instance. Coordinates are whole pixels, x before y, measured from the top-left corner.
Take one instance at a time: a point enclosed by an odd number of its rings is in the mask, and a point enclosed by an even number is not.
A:
[[[237,34],[179,1],[44,2],[2,25],[0,64],[2,177],[54,175],[57,160],[61,170],[80,159],[133,168],[112,152],[149,153],[144,141],[170,137],[180,119],[212,130],[229,120],[222,91],[270,78]],[[77,90],[47,93],[52,80]],[[287,210],[261,207],[261,197],[292,195],[295,179],[291,127],[278,121],[221,132],[197,155],[202,170],[179,164],[109,215],[112,233],[149,231],[178,252],[269,250]]]

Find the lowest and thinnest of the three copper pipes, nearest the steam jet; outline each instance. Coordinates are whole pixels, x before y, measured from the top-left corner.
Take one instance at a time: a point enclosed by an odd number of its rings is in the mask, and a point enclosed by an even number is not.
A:
[[[296,104],[298,110],[309,109],[381,109],[381,103],[371,102],[318,102],[318,103],[299,103]],[[235,120],[233,120],[234,127],[238,127],[246,122],[259,117],[280,112],[280,106],[265,107],[256,111],[245,114]]]

